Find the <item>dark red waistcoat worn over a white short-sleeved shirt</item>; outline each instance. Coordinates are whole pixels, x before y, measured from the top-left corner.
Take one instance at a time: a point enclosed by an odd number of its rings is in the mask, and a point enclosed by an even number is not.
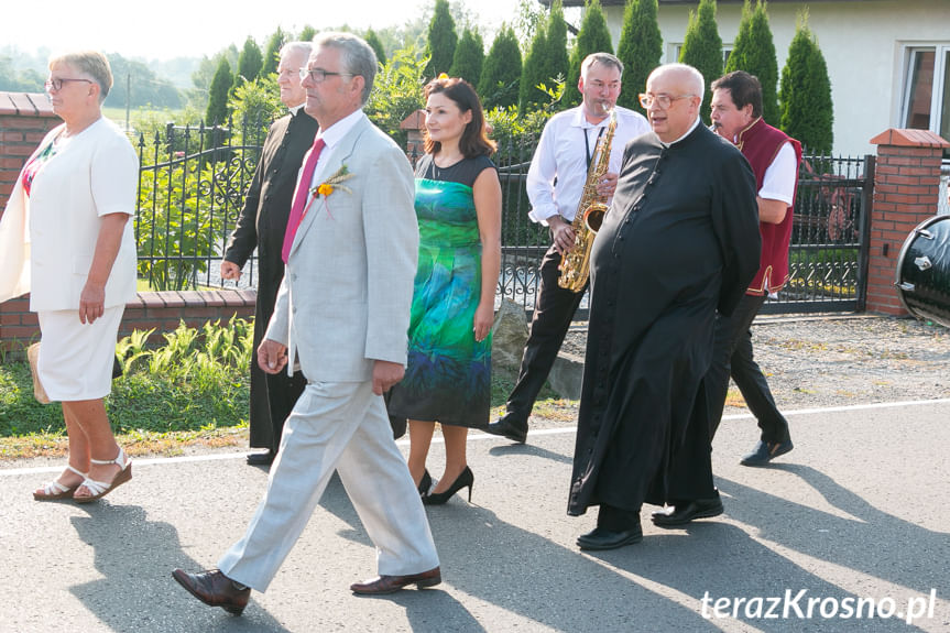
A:
[[[791,143],[791,148],[795,150],[795,188],[797,189],[798,164],[801,163],[801,143],[782,130],[767,124],[761,117],[739,133],[739,141],[735,145],[752,165],[752,171],[755,173],[756,190],[762,188],[766,170],[785,143]],[[745,294],[775,293],[782,290],[782,286],[788,281],[788,242],[791,239],[794,208],[795,198],[793,196],[791,206],[788,207],[785,219],[779,223],[758,222],[758,232],[762,233],[762,257],[760,258],[758,272]]]

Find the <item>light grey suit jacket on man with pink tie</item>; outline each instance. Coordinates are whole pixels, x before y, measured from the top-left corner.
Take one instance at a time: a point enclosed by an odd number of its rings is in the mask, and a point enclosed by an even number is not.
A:
[[[297,229],[265,335],[287,346],[288,371],[299,360],[312,382],[367,381],[374,360],[406,362],[419,239],[412,167],[367,118],[315,182],[343,164],[352,177]]]

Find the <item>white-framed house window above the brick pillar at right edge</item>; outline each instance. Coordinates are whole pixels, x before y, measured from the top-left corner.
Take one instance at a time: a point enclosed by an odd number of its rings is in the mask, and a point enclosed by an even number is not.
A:
[[[950,44],[907,48],[904,128],[950,139]]]

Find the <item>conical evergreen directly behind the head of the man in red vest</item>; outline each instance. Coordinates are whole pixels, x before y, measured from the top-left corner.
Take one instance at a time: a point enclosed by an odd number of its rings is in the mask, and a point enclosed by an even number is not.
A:
[[[778,113],[778,59],[768,26],[765,2],[755,0],[752,6],[745,0],[735,44],[725,62],[725,72],[745,70],[758,77],[762,84],[762,116],[766,123],[777,124]]]

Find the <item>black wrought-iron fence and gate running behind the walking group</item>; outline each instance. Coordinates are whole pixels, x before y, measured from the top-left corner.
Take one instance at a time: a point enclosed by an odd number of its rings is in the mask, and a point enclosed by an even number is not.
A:
[[[234,229],[266,132],[265,125],[168,125],[139,139],[141,172],[135,237],[140,277],[156,290],[233,287],[219,262]],[[502,265],[496,301],[533,312],[546,227],[527,215],[525,178],[536,139],[499,144]],[[414,160],[416,156],[410,156]],[[864,307],[867,220],[874,156],[806,156],[799,177],[790,249],[791,280],[763,312],[860,310]],[[256,285],[251,258],[240,287]],[[579,318],[586,317],[587,299]]]

